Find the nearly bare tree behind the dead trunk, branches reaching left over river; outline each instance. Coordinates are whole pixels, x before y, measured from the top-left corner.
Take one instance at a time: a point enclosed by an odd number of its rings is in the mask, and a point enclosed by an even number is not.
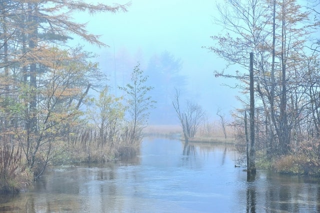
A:
[[[239,84],[236,87],[242,88],[243,94],[247,94],[249,91],[249,54],[253,52],[254,89],[260,97],[258,103],[262,104],[265,109],[265,117],[271,121],[269,100],[272,98],[267,92],[268,85],[270,85],[269,64],[267,63],[270,57],[267,51],[270,43],[268,23],[271,17],[266,15],[271,10],[265,5],[265,2],[260,0],[227,0],[225,4],[218,4],[220,16],[216,17],[215,22],[224,27],[226,34],[211,36],[217,45],[210,46],[208,49],[225,59],[227,68],[232,64],[240,65],[243,68],[244,71],[237,69],[235,73],[215,72],[216,77],[238,79]],[[244,105],[244,111],[249,108],[247,101],[241,99],[240,101]],[[239,111],[243,112],[243,110]],[[272,123],[269,124],[268,129],[270,132],[274,131]],[[269,135],[271,139],[268,141],[271,144],[273,134]]]

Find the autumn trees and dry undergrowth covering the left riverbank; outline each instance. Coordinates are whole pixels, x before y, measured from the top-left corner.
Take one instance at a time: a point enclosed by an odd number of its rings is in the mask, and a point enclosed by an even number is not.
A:
[[[48,165],[106,162],[136,154],[153,107],[139,64],[115,97],[91,52],[68,46],[77,36],[107,45],[72,12],[125,12],[83,1],[0,2],[0,191],[16,192]],[[97,91],[98,97],[89,95]]]

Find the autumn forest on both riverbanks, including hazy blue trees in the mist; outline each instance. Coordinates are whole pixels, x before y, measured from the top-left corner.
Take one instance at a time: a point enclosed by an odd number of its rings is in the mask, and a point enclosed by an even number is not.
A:
[[[215,77],[235,79],[236,85],[229,86],[241,90],[237,99],[242,107],[232,112],[228,125],[240,152],[248,143],[245,115],[253,53],[257,167],[320,175],[319,4],[295,0],[217,4],[214,22],[224,30],[212,35],[214,44],[203,48],[227,61]],[[180,91],[174,89],[185,92],[185,78],[179,72],[181,61],[169,52],[151,57],[145,73],[139,63],[126,70],[127,82],[117,87],[123,96],[117,97],[109,92],[107,76],[93,60],[96,55],[67,44],[75,36],[107,47],[86,30],[85,23],[72,19],[73,12],[126,12],[129,6],[0,1],[0,191],[19,191],[48,165],[103,163],[135,155],[149,116],[155,123],[167,118],[172,122],[175,112],[177,120],[184,119]],[[98,96],[89,95],[92,91]],[[155,107],[160,115],[150,114]],[[196,128],[205,123],[200,106],[188,102],[186,108],[200,109],[195,110],[201,115],[195,117]],[[183,132],[184,138],[194,137],[196,128]]]

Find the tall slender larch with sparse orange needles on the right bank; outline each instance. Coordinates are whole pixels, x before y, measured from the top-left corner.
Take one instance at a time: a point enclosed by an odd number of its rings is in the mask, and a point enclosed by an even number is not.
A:
[[[301,52],[303,52],[306,37],[309,34],[304,22],[308,18],[308,13],[302,12],[301,6],[295,0],[282,0],[273,2],[273,4],[275,4],[273,12],[277,26],[274,29],[276,40],[274,57],[279,63],[280,70],[278,74],[279,86],[274,94],[279,100],[279,114],[275,118],[278,124],[279,151],[281,154],[287,154],[290,150],[291,121],[294,116],[292,113],[294,108],[289,109],[289,98],[292,97],[292,102],[299,101],[298,97],[293,99],[297,94],[296,89],[300,77],[300,73],[295,70],[305,60],[304,57],[301,57]],[[301,28],[303,24],[304,27]],[[275,61],[272,62],[275,63]]]

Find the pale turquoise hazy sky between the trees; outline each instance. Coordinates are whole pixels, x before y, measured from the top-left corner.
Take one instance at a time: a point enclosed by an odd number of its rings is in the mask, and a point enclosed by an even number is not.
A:
[[[109,5],[126,2],[103,1]],[[214,70],[225,67],[223,59],[201,48],[213,45],[210,36],[222,30],[213,23],[217,14],[215,5],[214,0],[131,0],[127,12],[94,16],[80,13],[74,18],[87,22],[87,30],[101,35],[100,40],[109,45],[108,48],[98,48],[81,41],[85,48],[99,55],[97,60],[102,70],[109,66],[106,64],[109,61],[105,60],[107,55],[123,49],[128,54],[139,53],[141,64],[163,51],[180,58],[180,72],[186,75],[188,89],[192,91],[190,99],[202,106],[210,118],[218,119],[217,109],[228,116],[230,110],[239,106],[235,98],[239,93],[222,85],[232,86],[232,80],[214,77]]]

